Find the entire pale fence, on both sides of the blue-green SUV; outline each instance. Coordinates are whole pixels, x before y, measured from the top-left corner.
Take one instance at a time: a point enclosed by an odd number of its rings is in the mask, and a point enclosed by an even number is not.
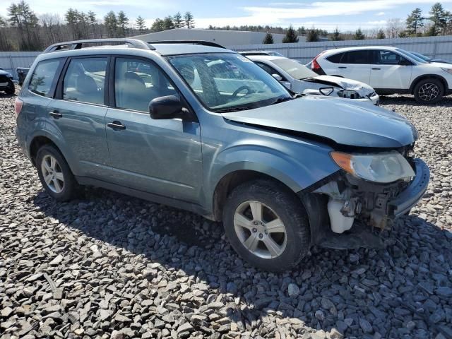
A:
[[[380,40],[299,42],[296,44],[250,44],[228,46],[228,48],[236,51],[271,50],[306,64],[325,49],[371,45],[400,47],[407,51],[420,52],[427,57],[452,61],[452,35]],[[0,52],[0,67],[13,73],[14,78],[17,79],[16,68],[30,66],[39,54],[40,52]]]

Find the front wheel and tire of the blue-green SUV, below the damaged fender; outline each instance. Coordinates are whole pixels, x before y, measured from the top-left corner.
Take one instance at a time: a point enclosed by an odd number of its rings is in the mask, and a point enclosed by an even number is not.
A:
[[[223,226],[239,256],[263,270],[290,270],[309,251],[302,201],[278,182],[259,179],[234,189],[223,210]]]

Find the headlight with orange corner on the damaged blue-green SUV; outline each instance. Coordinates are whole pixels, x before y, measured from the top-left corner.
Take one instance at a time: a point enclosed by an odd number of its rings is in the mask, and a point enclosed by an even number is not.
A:
[[[334,162],[345,172],[369,182],[388,183],[415,177],[415,171],[400,153],[348,154],[331,152]]]

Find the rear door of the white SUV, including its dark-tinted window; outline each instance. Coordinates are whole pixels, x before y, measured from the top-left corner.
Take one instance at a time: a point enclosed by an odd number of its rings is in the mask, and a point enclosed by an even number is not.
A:
[[[366,49],[336,54],[327,58],[330,62],[335,61],[335,71],[328,71],[328,74],[370,83],[370,57],[370,52]]]

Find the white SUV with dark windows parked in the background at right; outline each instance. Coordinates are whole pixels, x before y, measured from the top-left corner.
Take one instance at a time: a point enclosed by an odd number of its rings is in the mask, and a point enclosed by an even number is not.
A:
[[[429,63],[396,47],[329,49],[311,61],[311,69],[368,83],[380,95],[414,94],[424,104],[452,93],[452,65]]]

